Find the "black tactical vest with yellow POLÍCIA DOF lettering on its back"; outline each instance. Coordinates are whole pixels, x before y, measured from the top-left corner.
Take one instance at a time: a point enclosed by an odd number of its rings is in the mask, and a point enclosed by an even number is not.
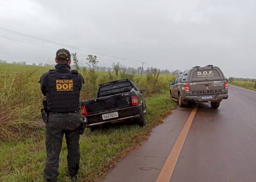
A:
[[[79,110],[81,84],[77,71],[59,73],[49,71],[49,88],[46,88],[47,110],[68,113]]]

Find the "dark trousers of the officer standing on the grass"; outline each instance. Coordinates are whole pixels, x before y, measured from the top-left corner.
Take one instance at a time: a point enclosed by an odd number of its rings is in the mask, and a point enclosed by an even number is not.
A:
[[[56,181],[59,175],[59,155],[65,134],[68,148],[68,173],[77,175],[80,161],[79,148],[79,113],[51,113],[46,123],[46,167],[44,179]]]

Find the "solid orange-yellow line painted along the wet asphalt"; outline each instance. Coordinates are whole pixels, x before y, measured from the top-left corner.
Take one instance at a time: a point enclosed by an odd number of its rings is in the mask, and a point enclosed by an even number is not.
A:
[[[156,179],[156,182],[169,182],[171,180],[172,173],[174,172],[174,168],[177,163],[177,159],[179,158],[181,149],[183,147],[185,139],[187,138],[188,131],[196,115],[197,108],[198,105],[196,105],[191,111],[187,121],[185,122],[185,125],[183,126],[183,129],[180,132],[179,137],[174,144],[174,147],[172,148],[170,155],[166,160],[166,163],[164,164],[162,170],[159,173],[158,179]]]

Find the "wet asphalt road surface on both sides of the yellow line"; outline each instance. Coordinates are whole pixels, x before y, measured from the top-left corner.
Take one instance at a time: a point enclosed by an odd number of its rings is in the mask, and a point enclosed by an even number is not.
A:
[[[177,107],[104,181],[155,181],[191,110]],[[256,92],[229,85],[218,110],[199,106],[170,181],[256,181]]]

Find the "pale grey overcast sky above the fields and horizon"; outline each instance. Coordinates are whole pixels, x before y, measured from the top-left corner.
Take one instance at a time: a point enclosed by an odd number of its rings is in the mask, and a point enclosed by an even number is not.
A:
[[[218,65],[226,77],[256,78],[256,1],[0,0],[0,59],[54,63],[58,48],[100,65],[189,69]],[[99,55],[104,53],[129,60]]]

